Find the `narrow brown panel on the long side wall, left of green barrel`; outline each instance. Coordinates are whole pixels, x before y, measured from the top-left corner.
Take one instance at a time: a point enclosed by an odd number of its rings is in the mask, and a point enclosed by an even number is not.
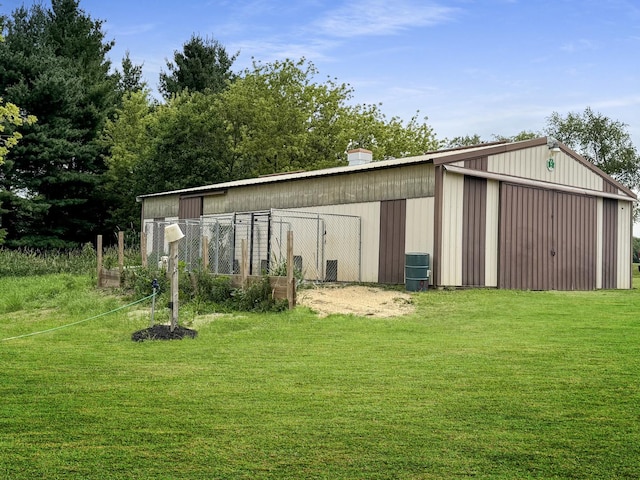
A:
[[[406,217],[406,200],[390,200],[380,203],[379,283],[404,283]]]

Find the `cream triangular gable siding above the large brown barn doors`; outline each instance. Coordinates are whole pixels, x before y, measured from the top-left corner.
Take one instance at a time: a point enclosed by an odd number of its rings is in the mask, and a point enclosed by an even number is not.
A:
[[[489,157],[488,171],[596,191],[603,190],[603,178],[566,153],[556,154],[555,168],[551,172],[547,169],[549,158],[549,149],[546,146],[500,153]]]

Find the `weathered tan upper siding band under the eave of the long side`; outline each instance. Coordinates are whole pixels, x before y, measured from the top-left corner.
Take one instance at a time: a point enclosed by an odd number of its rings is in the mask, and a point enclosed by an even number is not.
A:
[[[235,187],[224,195],[205,197],[204,214],[431,197],[434,189],[432,164],[407,165]]]

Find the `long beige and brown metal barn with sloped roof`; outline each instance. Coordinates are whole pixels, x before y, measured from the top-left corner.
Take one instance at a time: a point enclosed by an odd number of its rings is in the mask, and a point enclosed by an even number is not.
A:
[[[210,219],[219,230],[220,219],[250,215],[257,222],[262,215],[272,231],[273,212],[280,212],[275,224],[294,230],[294,250],[318,244],[308,254],[315,258],[295,253],[321,279],[401,284],[405,255],[425,252],[433,286],[531,290],[631,288],[635,200],[631,190],[545,137],[380,162],[359,149],[346,167],[138,198],[143,225]],[[283,220],[292,216],[317,218],[313,239]],[[334,217],[355,221],[357,232],[332,224]],[[264,242],[267,264],[280,243],[273,238]],[[345,246],[334,250],[342,253],[325,254],[322,245],[331,241]],[[237,247],[232,250],[235,259]],[[355,257],[357,267],[348,263]]]

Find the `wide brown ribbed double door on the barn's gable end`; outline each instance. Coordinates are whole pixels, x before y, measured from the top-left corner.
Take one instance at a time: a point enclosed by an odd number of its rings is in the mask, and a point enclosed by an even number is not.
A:
[[[596,199],[503,183],[499,286],[596,288]]]

